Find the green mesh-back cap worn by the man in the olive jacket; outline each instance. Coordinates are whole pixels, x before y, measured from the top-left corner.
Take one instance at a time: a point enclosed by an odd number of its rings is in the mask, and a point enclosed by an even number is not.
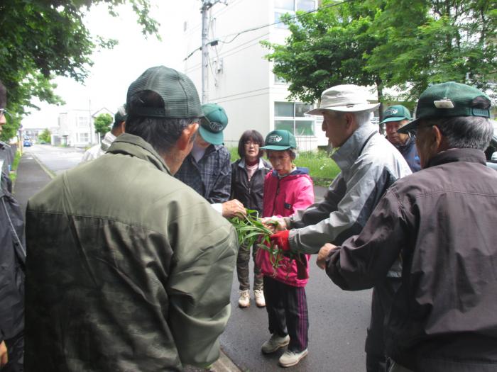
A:
[[[131,97],[141,91],[154,91],[164,101],[164,107],[132,105]],[[146,105],[146,103],[145,103]],[[165,66],[147,69],[133,81],[126,96],[128,115],[152,118],[202,118],[202,107],[195,85],[185,74]]]

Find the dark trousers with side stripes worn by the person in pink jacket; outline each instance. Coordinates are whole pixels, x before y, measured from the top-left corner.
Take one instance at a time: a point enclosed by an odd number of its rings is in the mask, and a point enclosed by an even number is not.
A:
[[[264,297],[268,311],[269,332],[280,337],[289,334],[289,351],[307,349],[309,312],[307,312],[305,288],[288,286],[264,276]]]

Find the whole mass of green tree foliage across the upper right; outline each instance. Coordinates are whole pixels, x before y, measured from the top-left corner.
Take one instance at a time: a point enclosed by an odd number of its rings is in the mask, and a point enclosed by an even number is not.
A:
[[[289,98],[310,103],[329,86],[359,84],[376,85],[380,102],[385,87],[411,100],[451,80],[496,91],[496,1],[324,0],[298,21],[283,19],[285,45],[263,45]]]

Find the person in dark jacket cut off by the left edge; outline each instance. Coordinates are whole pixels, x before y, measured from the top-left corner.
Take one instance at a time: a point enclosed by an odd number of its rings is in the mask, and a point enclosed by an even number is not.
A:
[[[0,132],[6,123],[6,94],[0,81]],[[19,372],[24,349],[24,222],[4,169],[0,158],[0,369]]]

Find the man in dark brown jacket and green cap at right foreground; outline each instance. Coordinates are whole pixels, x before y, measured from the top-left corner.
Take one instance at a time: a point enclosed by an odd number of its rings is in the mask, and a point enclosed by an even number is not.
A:
[[[422,170],[399,179],[362,232],[325,244],[318,266],[356,291],[403,262],[386,322],[388,371],[497,371],[497,173],[484,150],[490,99],[454,82],[420,96],[416,130]]]

